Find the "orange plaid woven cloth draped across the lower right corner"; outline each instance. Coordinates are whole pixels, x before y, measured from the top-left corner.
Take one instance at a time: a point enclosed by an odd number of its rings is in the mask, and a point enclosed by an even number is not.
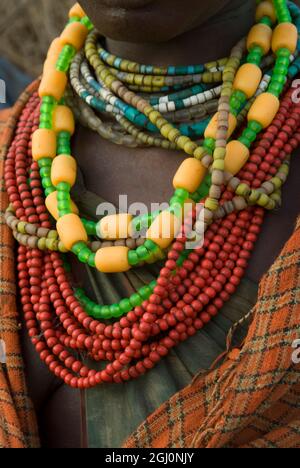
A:
[[[261,281],[241,350],[200,374],[126,448],[300,448],[300,220]]]

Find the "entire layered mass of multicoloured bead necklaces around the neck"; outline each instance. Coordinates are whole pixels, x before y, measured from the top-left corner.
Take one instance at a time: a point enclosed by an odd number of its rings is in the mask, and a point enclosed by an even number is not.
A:
[[[41,359],[66,384],[143,375],[236,291],[300,142],[292,86],[299,29],[293,3],[258,2],[256,24],[228,58],[156,67],[109,54],[79,4],[70,10],[5,166],[25,321]],[[74,116],[116,144],[181,152],[169,208],[98,222],[81,216],[71,198]],[[165,264],[155,282],[100,305],[73,287],[66,253],[103,274]],[[103,369],[88,368],[86,357]]]

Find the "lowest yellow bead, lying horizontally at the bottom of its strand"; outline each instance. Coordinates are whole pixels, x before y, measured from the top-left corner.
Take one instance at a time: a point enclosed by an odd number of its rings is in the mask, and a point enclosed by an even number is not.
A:
[[[124,273],[131,266],[128,262],[128,247],[105,247],[96,253],[95,264],[102,273]]]

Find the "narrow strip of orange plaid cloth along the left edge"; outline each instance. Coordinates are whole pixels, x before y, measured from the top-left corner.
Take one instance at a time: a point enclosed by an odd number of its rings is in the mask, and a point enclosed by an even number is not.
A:
[[[31,85],[13,112],[0,114],[0,448],[37,448],[36,419],[25,383],[16,306],[14,244],[4,221],[8,198],[4,188],[4,158],[16,121],[25,102],[36,88]]]

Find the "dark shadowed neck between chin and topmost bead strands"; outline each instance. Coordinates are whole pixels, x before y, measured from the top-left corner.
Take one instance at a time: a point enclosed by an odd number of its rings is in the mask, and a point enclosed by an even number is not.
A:
[[[253,25],[255,2],[232,0],[209,21],[165,43],[129,43],[107,40],[107,49],[119,57],[157,66],[205,63],[228,56],[231,48]]]

